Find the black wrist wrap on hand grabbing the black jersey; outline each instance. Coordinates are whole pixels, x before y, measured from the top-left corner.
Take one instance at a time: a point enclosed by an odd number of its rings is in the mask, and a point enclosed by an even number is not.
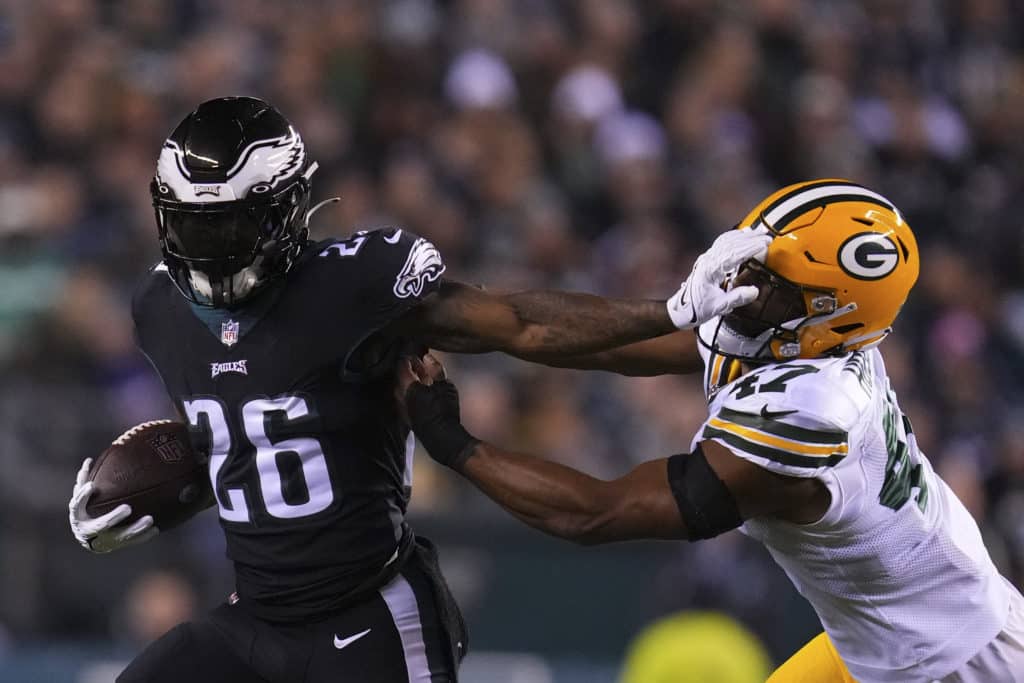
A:
[[[441,465],[461,470],[480,442],[459,420],[459,391],[447,380],[419,382],[406,391],[406,409],[416,437]]]

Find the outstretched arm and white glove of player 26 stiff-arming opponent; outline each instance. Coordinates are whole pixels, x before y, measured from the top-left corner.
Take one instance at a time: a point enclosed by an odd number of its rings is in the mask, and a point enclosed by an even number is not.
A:
[[[432,348],[463,353],[504,351],[527,360],[625,374],[691,372],[695,345],[666,362],[669,346],[638,346],[593,355],[676,330],[690,330],[757,298],[755,287],[724,288],[748,259],[763,259],[770,238],[729,230],[693,265],[690,276],[668,301],[604,299],[566,292],[490,293],[445,282],[398,323],[397,331]],[[677,338],[678,339],[678,338]]]

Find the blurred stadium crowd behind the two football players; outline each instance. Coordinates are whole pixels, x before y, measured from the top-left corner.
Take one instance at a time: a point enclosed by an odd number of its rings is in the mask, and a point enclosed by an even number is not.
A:
[[[0,1],[0,681],[109,683],[230,591],[214,514],[97,557],[66,507],[83,458],[171,413],[128,301],[158,256],[160,145],[224,94],[298,126],[314,196],[343,200],[321,237],[402,225],[492,287],[664,297],[776,186],[888,195],[924,250],[890,372],[1020,586],[1022,19],[1017,0]],[[476,433],[600,475],[685,450],[705,412],[691,378],[447,362]],[[580,549],[426,458],[414,506],[472,629],[469,683],[610,683],[630,640],[680,610],[729,615],[772,661],[819,630],[738,533]],[[739,638],[680,624],[703,654]],[[676,656],[673,633],[655,658]]]

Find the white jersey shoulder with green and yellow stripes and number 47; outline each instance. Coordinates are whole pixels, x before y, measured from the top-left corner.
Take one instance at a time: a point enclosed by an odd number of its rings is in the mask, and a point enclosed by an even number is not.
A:
[[[863,356],[856,362],[870,364]],[[869,383],[847,372],[850,356],[758,368],[712,402],[701,439],[791,476],[817,476],[849,455],[849,434],[867,409]],[[861,368],[869,377],[870,368]]]

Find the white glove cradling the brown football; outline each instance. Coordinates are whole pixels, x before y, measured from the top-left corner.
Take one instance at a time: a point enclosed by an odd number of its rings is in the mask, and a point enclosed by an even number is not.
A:
[[[153,525],[152,515],[139,517],[131,524],[119,526],[131,516],[131,506],[127,504],[119,505],[99,517],[89,516],[85,506],[89,504],[89,497],[95,490],[95,484],[86,480],[91,466],[92,458],[86,458],[75,478],[75,492],[71,496],[71,503],[68,504],[71,532],[82,547],[94,553],[109,553],[133,543],[148,541],[157,536],[159,531]]]

